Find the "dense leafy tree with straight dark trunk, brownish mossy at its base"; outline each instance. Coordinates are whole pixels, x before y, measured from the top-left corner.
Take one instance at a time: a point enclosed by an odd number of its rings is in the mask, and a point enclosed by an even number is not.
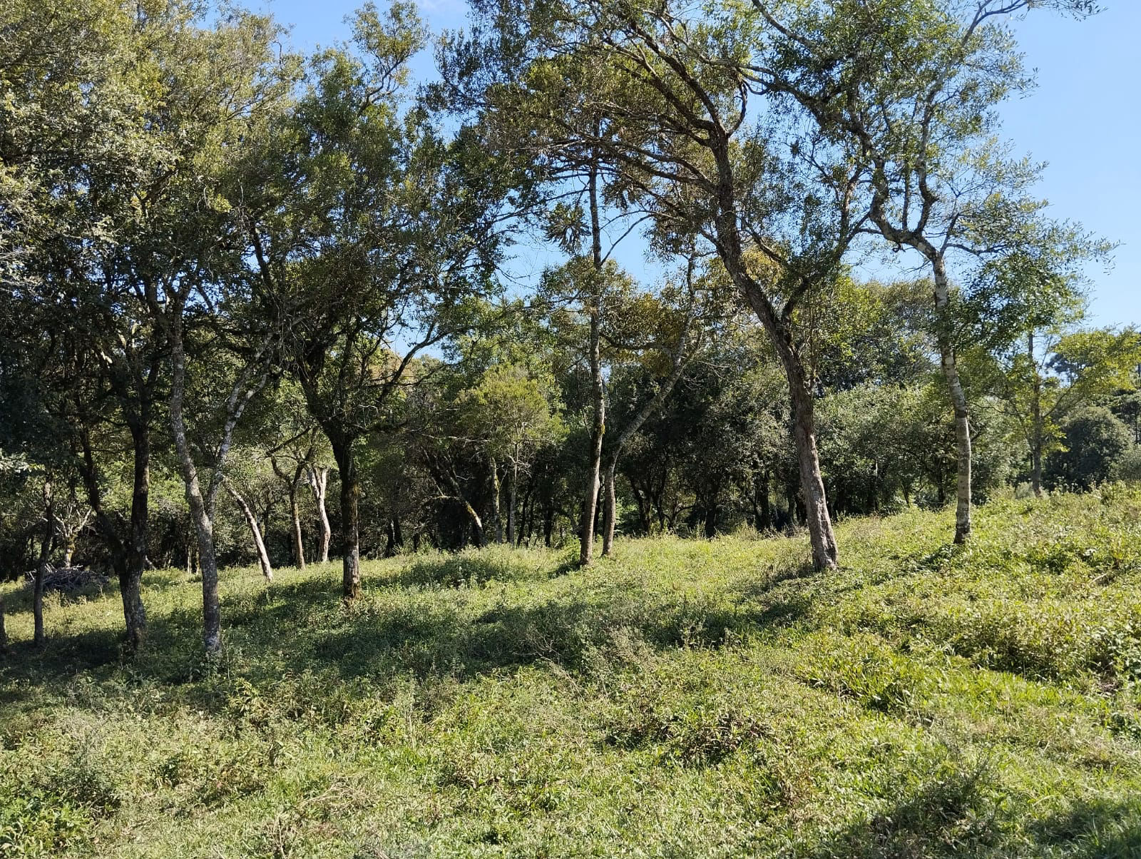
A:
[[[496,288],[509,196],[477,129],[445,139],[424,105],[402,111],[423,45],[410,3],[355,19],[355,49],[316,57],[293,120],[246,164],[251,257],[292,320],[286,366],[340,475],[342,591],[361,591],[357,452],[393,427],[413,360],[471,324]]]

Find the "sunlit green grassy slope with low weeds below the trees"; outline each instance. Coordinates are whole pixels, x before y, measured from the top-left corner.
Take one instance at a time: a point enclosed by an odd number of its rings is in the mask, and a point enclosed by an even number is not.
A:
[[[620,541],[224,576],[58,604],[8,587],[0,856],[1139,856],[1141,495],[803,539]]]

